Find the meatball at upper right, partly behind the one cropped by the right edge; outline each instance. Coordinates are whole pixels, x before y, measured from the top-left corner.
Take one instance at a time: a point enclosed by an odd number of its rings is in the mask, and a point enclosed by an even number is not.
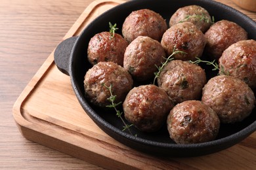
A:
[[[247,32],[234,22],[221,20],[211,25],[205,32],[205,38],[207,40],[205,52],[210,58],[217,60],[228,46],[246,40]]]

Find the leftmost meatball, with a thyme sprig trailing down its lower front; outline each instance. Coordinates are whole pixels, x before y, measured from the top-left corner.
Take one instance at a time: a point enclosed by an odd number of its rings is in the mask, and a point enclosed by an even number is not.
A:
[[[102,61],[93,65],[85,75],[85,97],[94,105],[106,107],[111,102],[110,90],[106,86],[112,86],[112,94],[116,95],[115,103],[125,99],[127,93],[133,88],[131,75],[117,63]]]

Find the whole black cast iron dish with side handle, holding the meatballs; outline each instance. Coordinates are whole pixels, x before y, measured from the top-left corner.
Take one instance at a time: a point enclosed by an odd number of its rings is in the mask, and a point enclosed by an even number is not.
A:
[[[215,17],[215,22],[222,19],[236,22],[247,31],[249,39],[256,39],[256,23],[253,20],[241,12],[215,1],[135,0],[118,5],[98,16],[83,30],[79,37],[72,37],[60,43],[54,54],[54,61],[58,69],[70,75],[72,87],[79,103],[97,126],[116,141],[142,152],[174,157],[201,156],[218,152],[239,143],[256,130],[256,109],[254,109],[251,116],[241,123],[228,126],[221,125],[215,141],[199,144],[175,144],[169,138],[166,127],[156,133],[141,133],[136,129],[131,129],[133,134],[137,134],[137,137],[130,135],[122,131],[123,124],[115,112],[100,110],[86,101],[83,80],[85,73],[91,67],[87,61],[87,46],[93,35],[108,31],[108,22],[116,23],[119,27],[117,33],[121,34],[121,25],[133,10],[151,9],[160,13],[166,22],[169,22],[169,18],[177,9],[187,5],[200,5],[205,8],[211,16]]]

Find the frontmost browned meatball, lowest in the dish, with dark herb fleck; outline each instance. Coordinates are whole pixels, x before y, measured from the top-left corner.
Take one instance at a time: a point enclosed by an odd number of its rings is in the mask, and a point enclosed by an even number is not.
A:
[[[175,143],[190,144],[212,141],[219,133],[216,112],[201,101],[184,101],[169,113],[167,129]]]

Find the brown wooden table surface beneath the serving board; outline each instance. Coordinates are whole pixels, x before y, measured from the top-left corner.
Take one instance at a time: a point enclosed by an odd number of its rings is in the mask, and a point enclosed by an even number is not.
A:
[[[0,0],[0,169],[101,169],[24,139],[12,116],[18,95],[91,2]]]

